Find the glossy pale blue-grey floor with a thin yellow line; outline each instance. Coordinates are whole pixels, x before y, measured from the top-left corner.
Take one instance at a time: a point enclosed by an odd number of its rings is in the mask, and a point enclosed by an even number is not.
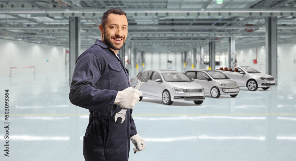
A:
[[[130,78],[139,70],[130,68]],[[180,101],[165,106],[144,97],[133,118],[146,149],[136,154],[131,150],[129,160],[295,161],[295,75],[279,71],[278,85],[271,89],[241,88],[236,98],[208,95],[201,105]],[[1,161],[84,160],[82,137],[89,111],[70,103],[66,80],[67,73],[60,71],[1,75],[0,123],[4,127],[10,122],[9,157],[4,156],[6,130],[0,130]],[[12,105],[8,121],[4,89],[9,89]]]

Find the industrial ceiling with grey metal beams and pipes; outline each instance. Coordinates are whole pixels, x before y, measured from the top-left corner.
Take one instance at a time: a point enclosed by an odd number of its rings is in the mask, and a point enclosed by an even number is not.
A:
[[[216,51],[265,46],[265,18],[277,17],[278,41],[296,43],[296,0],[2,0],[0,38],[69,47],[69,17],[80,17],[81,48],[100,38],[104,11],[128,17],[126,45],[184,51],[216,41]],[[172,47],[173,48],[170,48]],[[205,48],[207,49],[207,48]]]

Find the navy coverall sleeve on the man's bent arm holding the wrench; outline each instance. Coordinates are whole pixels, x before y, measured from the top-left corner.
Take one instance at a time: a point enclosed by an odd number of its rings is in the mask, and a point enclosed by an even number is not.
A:
[[[118,91],[94,88],[101,77],[101,63],[93,53],[78,57],[70,86],[69,99],[76,106],[106,115],[113,115]]]

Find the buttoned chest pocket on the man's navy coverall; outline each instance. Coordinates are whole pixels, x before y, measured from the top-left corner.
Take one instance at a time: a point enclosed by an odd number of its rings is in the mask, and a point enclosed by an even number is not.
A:
[[[126,83],[126,73],[121,64],[117,62],[108,62],[109,65],[109,83],[115,86],[122,86]]]

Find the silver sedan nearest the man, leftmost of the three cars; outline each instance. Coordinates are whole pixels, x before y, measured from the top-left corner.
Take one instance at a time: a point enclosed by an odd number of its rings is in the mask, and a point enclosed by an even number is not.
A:
[[[149,80],[142,84],[140,91],[143,97],[162,99],[165,105],[173,101],[193,101],[195,104],[202,104],[205,100],[205,88],[194,82],[186,74],[177,70],[153,69],[142,73],[145,77],[149,72]],[[135,87],[137,77],[131,78],[131,87]]]

